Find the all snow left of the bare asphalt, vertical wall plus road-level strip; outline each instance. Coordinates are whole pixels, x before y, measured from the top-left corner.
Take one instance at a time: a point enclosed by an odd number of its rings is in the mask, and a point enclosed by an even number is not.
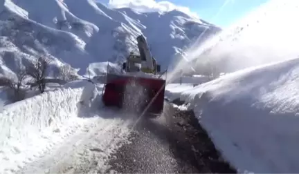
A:
[[[86,173],[109,168],[105,162],[125,143],[129,123],[111,110],[97,110],[102,106],[102,85],[74,81],[64,87],[4,107],[0,173]],[[89,168],[95,162],[98,166]]]

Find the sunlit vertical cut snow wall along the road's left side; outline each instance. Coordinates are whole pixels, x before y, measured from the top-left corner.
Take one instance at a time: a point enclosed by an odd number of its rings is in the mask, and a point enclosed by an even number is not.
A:
[[[0,113],[0,149],[12,151],[33,141],[45,128],[78,116],[82,88],[58,89],[10,104]]]

